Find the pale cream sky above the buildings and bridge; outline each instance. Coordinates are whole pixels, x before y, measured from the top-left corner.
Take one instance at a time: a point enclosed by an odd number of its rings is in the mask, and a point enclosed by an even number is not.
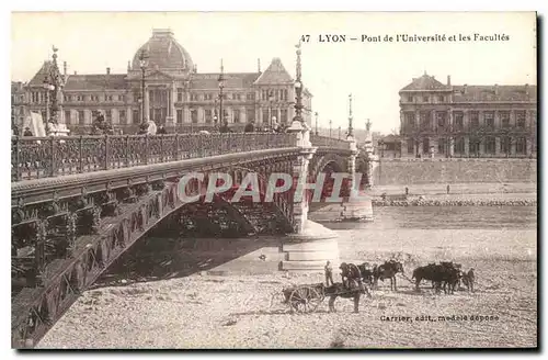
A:
[[[59,48],[68,72],[125,74],[127,61],[151,36],[171,29],[198,72],[264,70],[279,57],[295,77],[295,44],[302,35],[302,82],[313,94],[320,126],[347,126],[349,94],[354,127],[399,128],[398,91],[424,72],[453,85],[535,85],[536,18],[533,12],[35,12],[11,16],[11,79],[28,81]],[[320,35],[346,42],[320,42]],[[445,42],[396,42],[396,35],[445,35]],[[469,42],[449,42],[455,35]],[[473,34],[507,41],[473,41]],[[362,42],[362,35],[381,42]],[[385,36],[392,42],[383,42]],[[351,41],[356,37],[357,41]]]

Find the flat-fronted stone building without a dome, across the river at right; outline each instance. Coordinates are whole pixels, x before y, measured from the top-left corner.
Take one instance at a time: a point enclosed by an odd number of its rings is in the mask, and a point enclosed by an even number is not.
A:
[[[424,74],[399,95],[402,157],[536,157],[536,86],[454,86]]]

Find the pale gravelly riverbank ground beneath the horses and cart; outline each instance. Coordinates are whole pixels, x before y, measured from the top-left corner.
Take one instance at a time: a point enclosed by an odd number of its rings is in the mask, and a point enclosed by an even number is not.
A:
[[[290,314],[278,297],[289,284],[321,274],[201,275],[102,288],[84,293],[38,348],[454,348],[533,347],[537,336],[536,232],[340,230],[342,259],[399,257],[407,277],[429,261],[475,268],[473,293],[421,293],[404,278],[398,291],[380,283],[373,299],[327,300],[313,314]],[[450,237],[449,237],[450,234]],[[249,260],[260,261],[260,260]],[[439,320],[438,316],[494,316]],[[385,317],[406,316],[411,322]],[[434,320],[420,320],[431,316]]]

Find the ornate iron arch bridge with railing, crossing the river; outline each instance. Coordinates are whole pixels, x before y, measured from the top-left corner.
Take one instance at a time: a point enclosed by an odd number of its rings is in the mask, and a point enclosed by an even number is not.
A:
[[[315,177],[327,167],[353,173],[357,154],[352,139],[308,133],[13,137],[12,346],[35,345],[149,229],[187,221],[192,204],[178,196],[184,175],[228,172],[238,184],[249,171],[260,181],[272,172]],[[269,204],[220,195],[214,204],[217,220],[206,218],[207,227],[222,228],[225,216],[248,234],[299,233],[308,212],[307,199],[290,191]]]

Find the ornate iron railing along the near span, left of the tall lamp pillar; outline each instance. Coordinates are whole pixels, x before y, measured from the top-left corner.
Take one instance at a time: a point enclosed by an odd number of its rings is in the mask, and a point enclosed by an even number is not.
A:
[[[295,134],[12,137],[12,181],[296,146]]]

